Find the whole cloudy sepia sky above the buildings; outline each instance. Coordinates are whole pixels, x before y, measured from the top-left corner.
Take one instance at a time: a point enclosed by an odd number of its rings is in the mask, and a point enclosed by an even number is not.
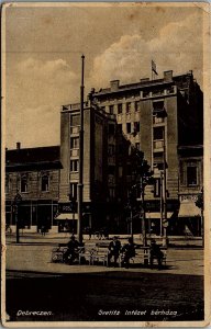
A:
[[[110,80],[136,82],[193,71],[202,89],[203,16],[200,3],[64,3],[8,5],[5,146],[59,145],[60,106],[79,102],[81,55],[85,93]]]

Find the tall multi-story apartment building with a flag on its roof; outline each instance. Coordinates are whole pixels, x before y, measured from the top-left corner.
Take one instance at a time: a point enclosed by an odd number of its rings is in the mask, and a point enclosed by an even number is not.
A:
[[[60,132],[59,202],[66,206],[69,194],[77,197],[79,104],[62,107]],[[144,151],[154,170],[155,185],[145,190],[148,230],[159,232],[165,167],[168,230],[179,230],[186,218],[192,234],[200,234],[193,201],[202,188],[203,102],[192,71],[176,77],[165,71],[162,79],[123,86],[114,80],[107,89],[91,90],[85,103],[85,225],[126,227],[124,206],[134,175],[130,144]],[[189,197],[186,211],[182,194]],[[138,217],[134,227],[141,230]]]

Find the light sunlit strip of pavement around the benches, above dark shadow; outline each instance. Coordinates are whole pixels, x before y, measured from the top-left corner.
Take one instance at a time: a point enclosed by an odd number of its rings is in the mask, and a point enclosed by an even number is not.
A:
[[[53,246],[45,243],[11,243],[7,246],[7,270],[29,271],[37,273],[67,274],[67,273],[106,273],[106,272],[140,272],[140,273],[169,273],[203,275],[203,250],[192,249],[168,249],[167,266],[158,271],[157,269],[144,268],[143,265],[124,268],[107,268],[101,264],[63,264],[52,263]]]

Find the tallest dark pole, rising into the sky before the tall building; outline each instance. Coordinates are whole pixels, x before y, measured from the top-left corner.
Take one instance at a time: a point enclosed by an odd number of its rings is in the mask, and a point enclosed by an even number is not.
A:
[[[84,75],[85,56],[81,56],[81,86],[80,86],[80,131],[79,131],[79,181],[78,181],[78,227],[79,242],[82,242],[82,191],[84,191]]]

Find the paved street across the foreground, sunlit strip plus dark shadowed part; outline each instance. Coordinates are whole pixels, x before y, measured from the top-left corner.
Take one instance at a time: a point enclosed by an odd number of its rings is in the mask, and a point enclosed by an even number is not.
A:
[[[9,241],[7,311],[10,320],[184,321],[203,318],[202,250],[168,249],[167,266],[162,271],[143,265],[113,269],[51,263],[51,251],[57,242],[58,239],[49,238],[25,240],[20,245]]]

